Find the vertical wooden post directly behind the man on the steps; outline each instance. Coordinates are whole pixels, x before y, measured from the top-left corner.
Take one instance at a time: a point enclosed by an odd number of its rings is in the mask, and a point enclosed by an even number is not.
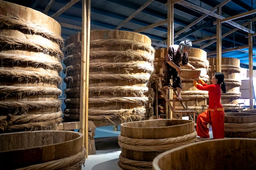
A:
[[[174,16],[173,16],[173,3],[172,0],[167,1],[167,50],[170,47],[170,45],[173,45],[174,43]],[[170,94],[171,93],[171,94]],[[169,95],[169,99],[172,99],[172,90],[169,90],[169,94],[166,94],[166,96]],[[175,109],[175,108],[173,108]],[[168,112],[167,112],[168,111]],[[169,109],[168,104],[166,104],[166,112],[171,115],[170,118],[172,118],[172,111]],[[166,115],[167,115],[166,113]]]

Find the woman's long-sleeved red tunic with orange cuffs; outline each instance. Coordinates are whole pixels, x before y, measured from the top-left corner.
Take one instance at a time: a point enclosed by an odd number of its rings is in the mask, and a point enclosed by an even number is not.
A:
[[[224,111],[221,104],[221,84],[208,85],[204,83],[203,86],[197,85],[199,90],[207,90],[209,95],[208,111]]]

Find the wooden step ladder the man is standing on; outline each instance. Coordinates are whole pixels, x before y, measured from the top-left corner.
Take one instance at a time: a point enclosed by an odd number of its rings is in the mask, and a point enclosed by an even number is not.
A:
[[[174,116],[176,119],[182,119],[183,114],[188,114],[188,117],[190,120],[194,120],[195,116],[196,116],[196,111],[193,110],[188,110],[188,106],[187,106],[187,102],[189,101],[189,99],[181,99],[181,100],[177,100],[177,99],[170,99],[171,96],[174,92],[174,94],[176,96],[178,96],[176,88],[173,87],[169,87],[169,88],[164,88],[162,87],[162,78],[163,76],[160,74],[157,74],[157,77],[155,77],[155,85],[156,85],[156,99],[155,99],[155,103],[156,103],[156,118],[158,119],[158,90],[161,92],[161,94],[163,95],[163,97],[166,100],[166,119],[172,119],[172,116]],[[185,104],[184,104],[185,101]],[[184,110],[178,110],[175,111],[175,102],[180,102],[183,109]],[[171,113],[169,112],[169,108],[171,110]],[[193,117],[191,116],[191,114],[193,114]],[[195,122],[196,123],[196,122]]]

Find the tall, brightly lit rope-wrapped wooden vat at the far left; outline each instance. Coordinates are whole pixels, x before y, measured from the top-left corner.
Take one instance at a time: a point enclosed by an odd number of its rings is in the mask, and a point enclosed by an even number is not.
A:
[[[55,130],[62,120],[60,24],[0,1],[0,25],[0,133]]]

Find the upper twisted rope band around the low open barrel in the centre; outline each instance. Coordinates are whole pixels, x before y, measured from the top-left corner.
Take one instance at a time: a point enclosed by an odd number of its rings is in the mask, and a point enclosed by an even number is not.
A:
[[[197,132],[166,139],[133,139],[118,136],[118,144],[121,148],[141,152],[164,152],[196,141]]]

